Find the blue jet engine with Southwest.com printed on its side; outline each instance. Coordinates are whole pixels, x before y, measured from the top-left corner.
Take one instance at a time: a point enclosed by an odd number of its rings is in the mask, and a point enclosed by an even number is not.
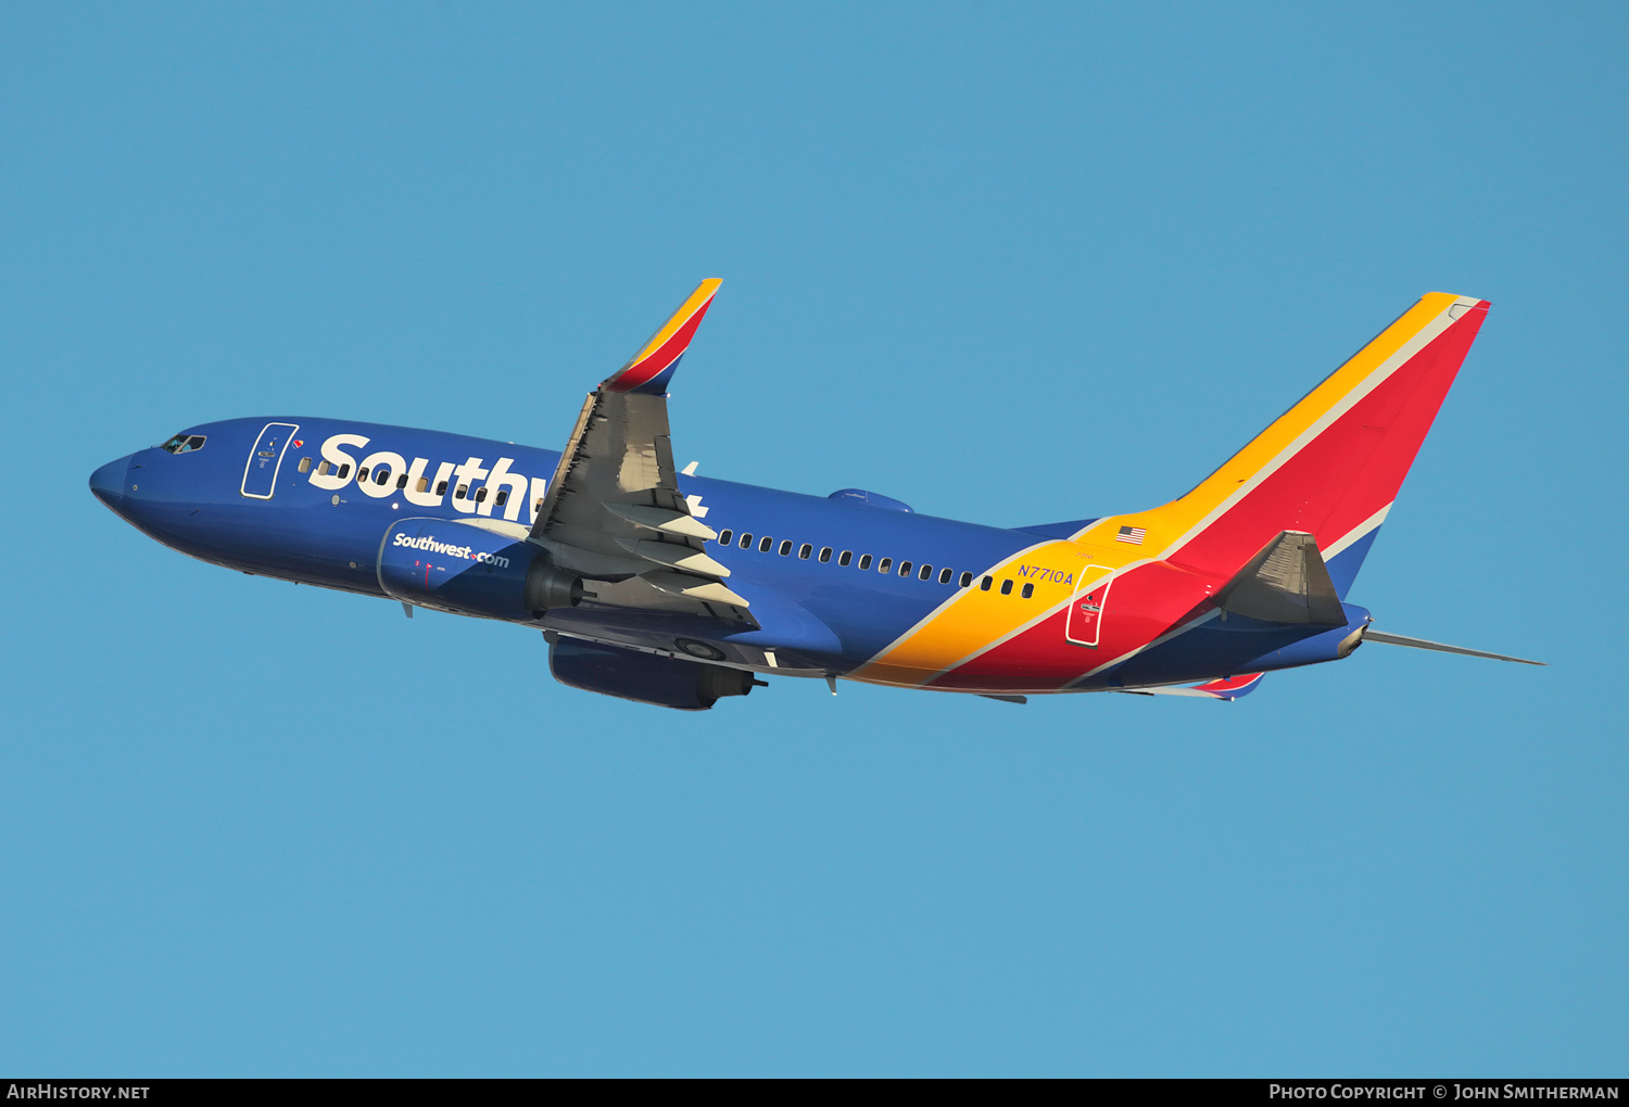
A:
[[[531,542],[458,519],[401,519],[380,542],[386,596],[459,615],[526,622],[575,607],[583,581]]]

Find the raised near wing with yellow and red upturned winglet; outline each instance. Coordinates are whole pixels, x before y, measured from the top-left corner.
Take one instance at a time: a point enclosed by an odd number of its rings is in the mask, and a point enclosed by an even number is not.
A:
[[[686,606],[740,617],[748,602],[723,583],[730,570],[704,549],[718,536],[679,492],[668,435],[668,381],[720,283],[704,280],[627,365],[588,394],[529,540],[580,576],[639,578]]]

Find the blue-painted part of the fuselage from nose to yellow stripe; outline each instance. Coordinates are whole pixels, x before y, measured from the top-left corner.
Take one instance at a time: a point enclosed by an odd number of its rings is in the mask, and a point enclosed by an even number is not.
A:
[[[257,451],[274,425],[292,428],[287,441]],[[93,479],[98,495],[156,540],[205,562],[368,596],[384,596],[380,542],[393,523],[428,516],[529,527],[533,492],[541,492],[560,457],[552,449],[485,438],[306,417],[223,420],[182,435],[202,436],[204,444],[179,454],[155,446],[111,462]],[[339,435],[365,441],[342,443],[339,456],[349,461],[331,462],[331,472],[321,474],[323,444]],[[384,483],[373,480],[378,464],[365,466],[380,453],[401,459],[386,462]],[[425,464],[417,466],[420,459]],[[349,466],[344,477],[340,466]],[[425,492],[415,492],[417,477],[397,487],[415,466],[428,482]],[[459,477],[458,466],[482,475]],[[370,469],[367,479],[360,479],[363,467]],[[507,487],[489,487],[495,470],[508,479]],[[440,495],[438,472],[448,477]],[[464,497],[458,495],[461,487]],[[744,640],[793,650],[801,663],[831,672],[845,672],[886,648],[943,604],[964,573],[977,575],[1043,540],[1036,532],[731,480],[681,475],[679,488],[720,539],[730,536],[728,544],[709,544],[709,552],[730,568],[730,586],[753,601],[764,624]],[[267,490],[267,498],[257,498]],[[1059,534],[1078,526],[1062,524]],[[886,573],[878,571],[883,558],[891,562]],[[898,571],[904,562],[912,565],[909,576]],[[922,565],[932,567],[927,580]],[[945,570],[950,578],[942,583]],[[583,610],[578,617],[591,615]],[[616,612],[599,617],[640,622]]]

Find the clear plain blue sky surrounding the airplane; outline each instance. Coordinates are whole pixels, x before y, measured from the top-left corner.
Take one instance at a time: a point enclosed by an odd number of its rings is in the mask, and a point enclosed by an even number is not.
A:
[[[0,8],[0,1070],[1598,1074],[1629,1042],[1611,5]],[[1025,526],[1494,301],[1238,703],[567,690],[173,554],[184,425],[557,448],[702,277],[707,475]]]

